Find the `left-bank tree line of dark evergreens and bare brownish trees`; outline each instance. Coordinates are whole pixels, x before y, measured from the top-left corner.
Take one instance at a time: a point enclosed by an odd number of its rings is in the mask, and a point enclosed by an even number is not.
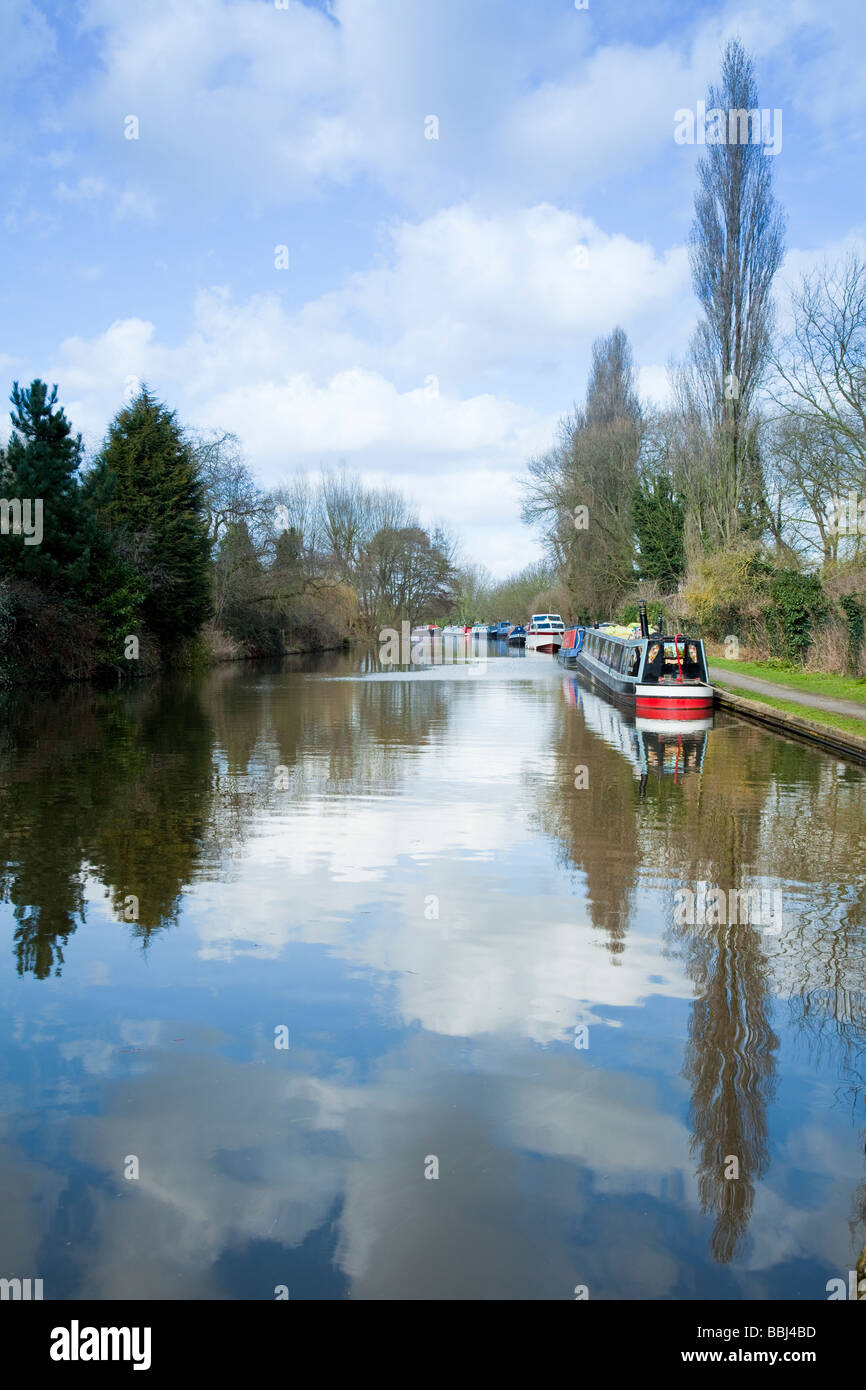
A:
[[[334,646],[453,602],[453,539],[395,489],[345,470],[264,489],[235,435],[185,430],[147,386],[90,459],[57,386],[15,382],[11,403],[3,684]]]

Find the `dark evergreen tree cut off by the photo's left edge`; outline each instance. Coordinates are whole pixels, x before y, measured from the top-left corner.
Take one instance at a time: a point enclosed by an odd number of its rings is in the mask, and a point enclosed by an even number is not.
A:
[[[39,378],[28,389],[15,382],[10,399],[13,435],[0,459],[0,493],[8,513],[8,532],[0,535],[0,574],[81,594],[96,541],[78,481],[81,435],[72,434],[57,404],[57,386],[49,392]],[[17,535],[14,521],[24,525]]]

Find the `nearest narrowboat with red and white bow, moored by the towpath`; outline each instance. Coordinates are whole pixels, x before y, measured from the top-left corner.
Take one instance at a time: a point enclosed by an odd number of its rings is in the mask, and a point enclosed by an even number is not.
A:
[[[637,631],[578,628],[573,646],[573,670],[644,719],[699,720],[713,712],[703,642],[680,632],[651,634],[645,606]]]

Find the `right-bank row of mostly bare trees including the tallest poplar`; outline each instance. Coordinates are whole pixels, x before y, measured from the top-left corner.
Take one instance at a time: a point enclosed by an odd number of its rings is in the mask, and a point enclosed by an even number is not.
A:
[[[759,108],[738,40],[709,106]],[[866,261],[824,263],[785,297],[784,247],[773,160],[708,142],[689,235],[701,317],[670,403],[639,400],[621,327],[599,338],[584,403],[528,463],[523,514],[575,619],[645,596],[710,637],[860,670]]]

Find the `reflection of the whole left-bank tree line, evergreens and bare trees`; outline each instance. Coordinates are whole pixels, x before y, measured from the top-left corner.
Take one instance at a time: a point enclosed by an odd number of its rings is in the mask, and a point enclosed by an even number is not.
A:
[[[407,773],[449,717],[443,685],[307,682],[217,669],[111,694],[7,698],[0,742],[0,895],[21,974],[58,976],[88,878],[146,945],[178,922],[199,873],[236,855],[257,815],[364,794]],[[289,790],[275,785],[278,764]]]

